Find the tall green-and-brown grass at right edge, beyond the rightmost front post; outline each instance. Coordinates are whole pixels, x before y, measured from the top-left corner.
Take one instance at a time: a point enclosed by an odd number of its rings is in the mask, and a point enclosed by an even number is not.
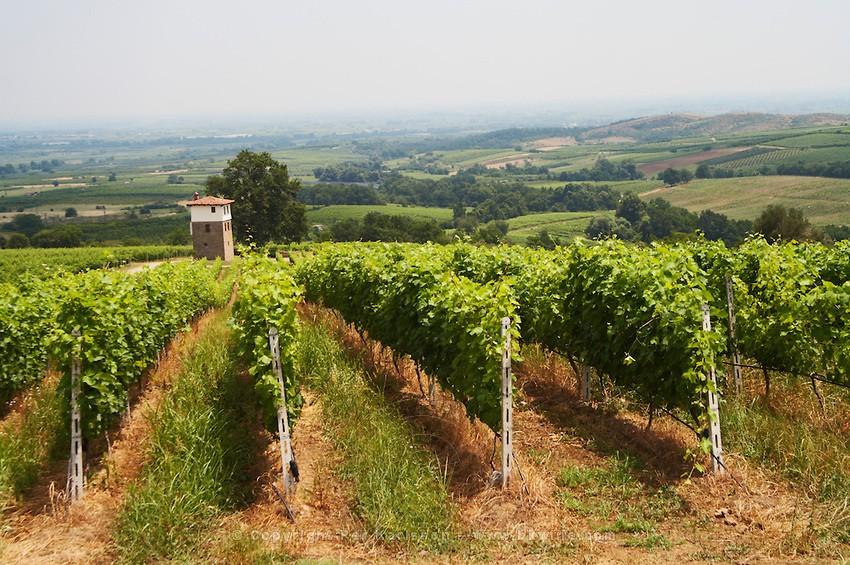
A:
[[[850,395],[845,389],[745,371],[744,390],[724,406],[726,444],[801,498],[789,547],[833,556],[850,553]],[[818,399],[818,395],[823,401]],[[843,545],[842,545],[843,544]]]

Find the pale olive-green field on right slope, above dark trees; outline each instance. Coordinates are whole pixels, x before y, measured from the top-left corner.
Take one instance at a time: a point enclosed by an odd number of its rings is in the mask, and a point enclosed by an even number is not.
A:
[[[800,208],[817,225],[850,223],[850,179],[758,176],[693,180],[656,188],[643,198],[664,198],[691,211],[711,209],[735,219],[753,219],[769,204]]]

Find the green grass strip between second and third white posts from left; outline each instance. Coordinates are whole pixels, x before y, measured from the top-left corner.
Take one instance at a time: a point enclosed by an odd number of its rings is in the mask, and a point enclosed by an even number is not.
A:
[[[340,475],[354,485],[355,511],[387,543],[438,551],[455,542],[454,509],[433,457],[400,414],[368,387],[367,375],[320,325],[303,328],[298,366],[321,396]]]

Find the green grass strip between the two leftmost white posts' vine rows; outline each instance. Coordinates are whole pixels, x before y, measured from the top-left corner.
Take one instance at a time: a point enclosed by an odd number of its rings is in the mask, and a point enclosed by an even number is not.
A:
[[[243,411],[253,406],[253,389],[234,378],[226,316],[221,312],[206,326],[149,416],[146,463],[113,533],[123,562],[194,556],[215,518],[249,496],[244,469],[253,451]]]

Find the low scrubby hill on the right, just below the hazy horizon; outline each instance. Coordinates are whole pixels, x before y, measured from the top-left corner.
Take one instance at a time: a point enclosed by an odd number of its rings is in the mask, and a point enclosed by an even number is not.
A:
[[[794,127],[840,126],[850,123],[841,114],[759,114],[753,112],[698,116],[665,114],[622,120],[607,126],[590,128],[577,136],[579,141],[663,141],[681,137],[713,136],[760,132]]]

